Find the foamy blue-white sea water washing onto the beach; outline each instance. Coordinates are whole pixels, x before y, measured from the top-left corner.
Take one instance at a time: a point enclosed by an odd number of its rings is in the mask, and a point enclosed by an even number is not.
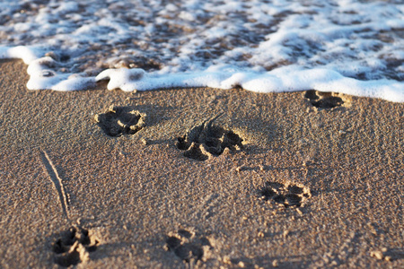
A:
[[[241,86],[404,101],[400,1],[0,3],[0,58],[31,90]]]

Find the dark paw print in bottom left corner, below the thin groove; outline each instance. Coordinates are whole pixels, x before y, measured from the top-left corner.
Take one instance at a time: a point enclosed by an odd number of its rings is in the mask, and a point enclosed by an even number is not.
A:
[[[99,241],[81,227],[71,227],[52,244],[52,251],[56,254],[55,263],[68,267],[78,265],[88,260],[89,252],[95,251]]]

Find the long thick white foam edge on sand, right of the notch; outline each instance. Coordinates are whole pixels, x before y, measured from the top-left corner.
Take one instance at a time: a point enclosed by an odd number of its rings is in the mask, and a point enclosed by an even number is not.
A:
[[[212,87],[232,89],[241,86],[248,91],[283,92],[283,91],[336,91],[338,92],[381,98],[394,102],[404,102],[404,88],[402,82],[391,80],[359,81],[347,78],[335,71],[327,69],[284,70],[267,73],[229,72],[197,72],[170,75],[144,74],[143,70],[134,70],[135,74],[142,74],[138,79],[129,79],[134,69],[109,69],[103,71],[96,81],[110,79],[108,89],[123,91],[148,91],[173,87]]]

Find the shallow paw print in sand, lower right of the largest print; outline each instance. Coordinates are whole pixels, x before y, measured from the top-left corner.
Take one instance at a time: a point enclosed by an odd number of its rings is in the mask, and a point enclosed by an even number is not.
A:
[[[277,182],[266,182],[265,186],[259,190],[260,198],[264,201],[273,201],[277,204],[283,204],[285,207],[300,207],[310,197],[308,187],[299,187],[297,185]]]

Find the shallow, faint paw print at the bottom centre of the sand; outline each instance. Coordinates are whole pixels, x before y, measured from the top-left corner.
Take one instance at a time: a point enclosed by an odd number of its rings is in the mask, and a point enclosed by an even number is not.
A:
[[[199,260],[205,261],[206,254],[212,248],[209,239],[197,237],[189,230],[178,230],[170,233],[165,241],[165,249],[173,252],[186,263],[197,263]]]

